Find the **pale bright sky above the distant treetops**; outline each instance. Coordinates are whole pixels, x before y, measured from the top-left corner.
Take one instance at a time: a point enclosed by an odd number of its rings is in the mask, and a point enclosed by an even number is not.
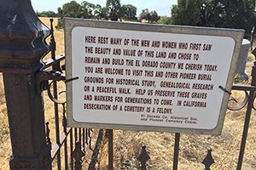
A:
[[[100,4],[102,7],[106,5],[106,0],[85,0],[89,3]],[[54,11],[62,7],[64,3],[70,0],[32,0],[32,7],[35,11]],[[76,0],[77,3],[82,3],[84,0]],[[177,4],[177,0],[120,0],[121,4],[131,4],[137,7],[137,15],[143,9],[148,8],[149,11],[155,10],[160,16],[171,16],[171,8],[173,4]]]

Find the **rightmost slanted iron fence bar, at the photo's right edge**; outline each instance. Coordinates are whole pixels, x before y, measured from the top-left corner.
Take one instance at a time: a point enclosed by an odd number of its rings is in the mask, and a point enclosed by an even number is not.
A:
[[[253,49],[252,54],[254,55],[254,57],[256,59],[256,48]],[[256,61],[254,61],[254,63],[253,63],[251,85],[256,86]],[[255,91],[250,91],[248,105],[247,105],[247,113],[246,113],[246,117],[245,117],[242,137],[241,137],[240,153],[239,153],[239,157],[238,157],[236,170],[241,170],[241,165],[242,165],[243,156],[244,156],[244,150],[245,150],[246,143],[247,143],[247,133],[248,133],[248,128],[249,128],[250,119],[251,119],[251,115],[252,115],[254,99],[255,99]]]

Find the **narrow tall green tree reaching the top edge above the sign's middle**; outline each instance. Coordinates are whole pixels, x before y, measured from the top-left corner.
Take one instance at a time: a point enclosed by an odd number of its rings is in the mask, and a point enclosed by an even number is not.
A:
[[[119,0],[107,0],[106,7],[109,8],[110,20],[119,20],[121,17],[121,4]]]

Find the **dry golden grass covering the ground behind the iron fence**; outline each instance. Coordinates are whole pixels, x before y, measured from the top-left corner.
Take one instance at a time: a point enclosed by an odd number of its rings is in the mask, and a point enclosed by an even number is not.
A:
[[[41,20],[49,26],[49,19],[41,18]],[[55,24],[56,22],[57,20],[55,19]],[[64,53],[63,33],[62,30],[55,31],[55,41],[57,42],[56,54]],[[45,58],[49,58],[49,55]],[[247,75],[250,75],[249,72],[252,65],[253,61],[247,63]],[[2,79],[2,75],[0,75],[0,78]],[[239,99],[241,99],[242,95],[242,93],[236,93]],[[46,122],[50,122],[49,127],[54,129],[55,116],[51,111],[53,104],[48,101],[47,96],[44,99],[46,104],[45,112],[47,113]],[[60,112],[61,110],[62,108],[60,108]],[[216,162],[212,165],[213,170],[236,169],[244,116],[245,110],[227,111],[223,133],[220,136],[181,134],[178,169],[203,169],[204,166],[201,164],[201,161],[207,155],[208,148],[212,148],[212,156]],[[243,170],[256,169],[255,129],[256,120],[255,111],[253,111],[243,161]],[[51,136],[55,136],[53,131],[51,131]],[[7,111],[3,97],[3,81],[0,82],[0,142],[0,170],[9,169],[11,146]],[[147,146],[148,154],[151,157],[148,161],[148,170],[172,169],[174,134],[121,130],[114,131],[114,169],[138,169],[137,156],[139,156],[143,144]],[[103,153],[100,169],[107,169],[107,165],[108,157],[106,153]]]

